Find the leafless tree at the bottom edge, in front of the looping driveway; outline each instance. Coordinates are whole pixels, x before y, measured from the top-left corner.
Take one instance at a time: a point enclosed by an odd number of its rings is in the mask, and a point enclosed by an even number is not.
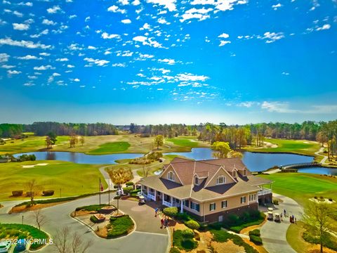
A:
[[[91,243],[91,240],[82,240],[79,233],[72,233],[68,227],[59,229],[53,238],[53,246],[59,253],[85,253]]]

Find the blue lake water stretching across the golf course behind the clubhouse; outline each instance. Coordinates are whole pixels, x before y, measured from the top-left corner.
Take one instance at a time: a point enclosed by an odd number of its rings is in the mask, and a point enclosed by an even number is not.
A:
[[[60,160],[67,162],[75,162],[79,164],[116,164],[116,160],[133,159],[141,157],[143,154],[111,154],[111,155],[86,155],[84,153],[74,152],[32,152],[25,153],[27,155],[35,155],[37,160]],[[18,157],[16,154],[15,157]],[[164,155],[182,155],[194,160],[209,160],[213,159],[212,150],[210,148],[192,148],[191,152],[178,152],[178,153],[165,153]],[[313,157],[305,155],[293,154],[272,154],[272,153],[251,153],[244,152],[242,162],[250,171],[263,171],[274,167],[275,165],[281,166],[286,164],[312,162]],[[337,175],[337,169],[329,168],[308,168],[299,169],[299,172],[313,173],[313,174],[333,174]]]

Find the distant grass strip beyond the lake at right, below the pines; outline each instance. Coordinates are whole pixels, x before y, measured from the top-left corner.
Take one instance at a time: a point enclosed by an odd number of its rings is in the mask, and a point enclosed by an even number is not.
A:
[[[284,140],[284,139],[274,139],[265,138],[266,142],[276,144],[277,148],[258,148],[249,147],[246,150],[257,151],[257,152],[279,152],[279,153],[295,153],[302,155],[312,155],[315,156],[320,148],[319,143],[315,141],[305,141],[305,140]]]

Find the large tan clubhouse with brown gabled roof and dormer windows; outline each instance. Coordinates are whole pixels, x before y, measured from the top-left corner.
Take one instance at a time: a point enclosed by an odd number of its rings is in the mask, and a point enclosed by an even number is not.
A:
[[[138,182],[147,201],[193,214],[204,222],[258,209],[271,202],[272,181],[253,176],[240,158],[191,161],[175,158],[161,174]],[[271,188],[271,187],[270,187]]]

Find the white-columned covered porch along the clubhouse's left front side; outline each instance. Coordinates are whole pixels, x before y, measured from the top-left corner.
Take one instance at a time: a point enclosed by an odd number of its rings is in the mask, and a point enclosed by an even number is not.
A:
[[[147,202],[154,201],[158,205],[163,205],[165,207],[178,207],[180,212],[183,212],[183,200],[180,200],[176,197],[161,193],[159,190],[143,186],[140,190],[141,194],[145,197]]]

